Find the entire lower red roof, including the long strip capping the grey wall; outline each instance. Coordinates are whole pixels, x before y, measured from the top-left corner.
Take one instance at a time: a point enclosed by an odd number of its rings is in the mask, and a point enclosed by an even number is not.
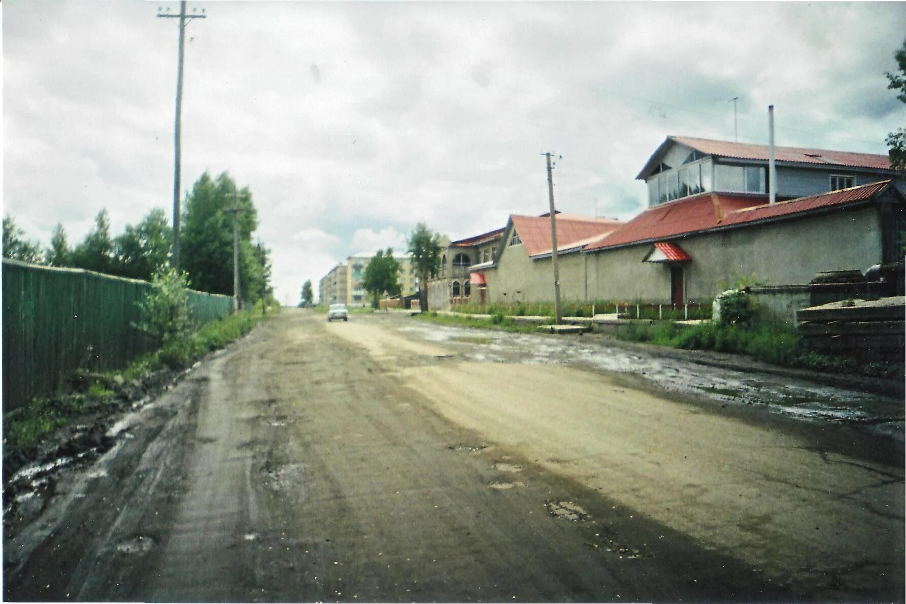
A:
[[[714,228],[756,223],[778,216],[794,216],[824,207],[843,206],[871,199],[890,186],[890,180],[882,180],[871,185],[799,197],[776,204],[766,204],[763,196],[706,193],[687,197],[645,210],[602,241],[586,247],[585,251],[670,239]]]

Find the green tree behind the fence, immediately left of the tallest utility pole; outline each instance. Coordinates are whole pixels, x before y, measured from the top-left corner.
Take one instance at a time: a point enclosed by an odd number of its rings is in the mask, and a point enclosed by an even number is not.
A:
[[[113,240],[114,270],[124,277],[150,281],[169,264],[172,243],[167,214],[155,207],[138,225],[126,225],[123,234]]]

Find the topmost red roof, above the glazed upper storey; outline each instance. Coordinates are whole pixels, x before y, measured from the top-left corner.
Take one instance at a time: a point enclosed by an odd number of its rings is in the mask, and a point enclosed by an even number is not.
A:
[[[678,142],[706,155],[717,155],[722,158],[768,160],[767,145],[729,142],[727,140],[697,139],[695,137],[669,136],[651,155],[645,167],[636,178],[650,176],[654,165],[660,161],[660,155],[670,141]],[[886,155],[875,153],[853,153],[851,151],[833,151],[829,149],[805,149],[801,147],[775,147],[774,157],[777,161],[840,166],[843,168],[872,168],[889,170],[891,159]]]

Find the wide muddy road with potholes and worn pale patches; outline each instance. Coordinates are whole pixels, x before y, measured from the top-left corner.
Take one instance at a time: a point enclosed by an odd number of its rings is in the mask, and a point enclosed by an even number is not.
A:
[[[901,401],[702,368],[710,396],[669,391],[602,368],[622,354],[284,311],[60,475],[5,599],[903,598],[901,440],[825,421]],[[733,404],[746,379],[786,405]]]

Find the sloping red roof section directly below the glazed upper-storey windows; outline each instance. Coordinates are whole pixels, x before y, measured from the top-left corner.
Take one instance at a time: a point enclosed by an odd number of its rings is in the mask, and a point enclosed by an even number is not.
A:
[[[720,224],[730,212],[766,202],[766,196],[703,193],[650,207],[585,251],[638,241],[669,239],[683,233],[702,231]],[[521,236],[521,234],[520,234]]]

